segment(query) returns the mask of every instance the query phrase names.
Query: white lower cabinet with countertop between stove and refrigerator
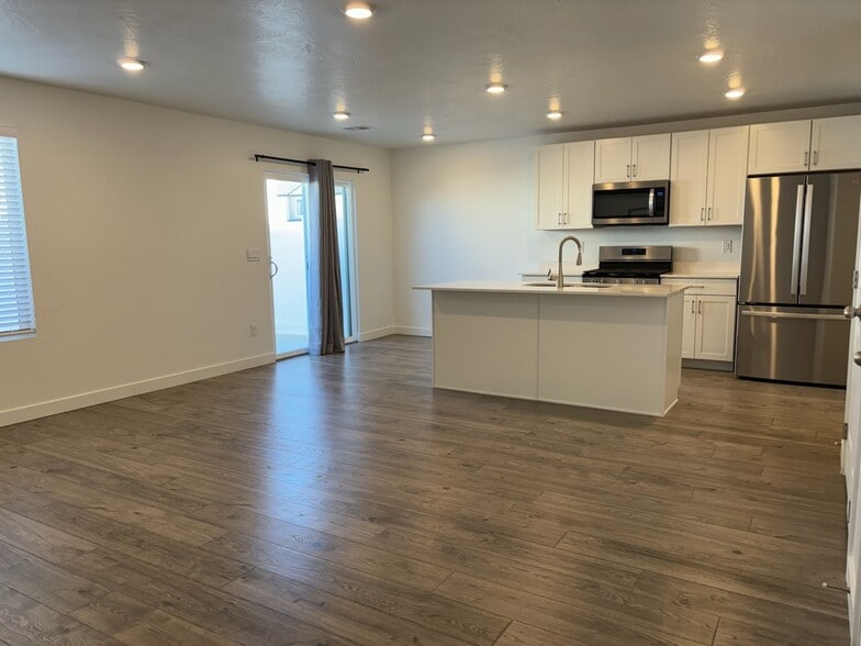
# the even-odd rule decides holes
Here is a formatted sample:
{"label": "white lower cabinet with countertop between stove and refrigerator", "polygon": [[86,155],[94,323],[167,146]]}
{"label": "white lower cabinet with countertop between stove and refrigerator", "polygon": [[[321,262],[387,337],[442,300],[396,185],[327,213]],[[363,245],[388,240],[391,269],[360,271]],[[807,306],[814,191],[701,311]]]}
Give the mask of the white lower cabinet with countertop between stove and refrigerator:
{"label": "white lower cabinet with countertop between stove and refrigerator", "polygon": [[664,278],[685,285],[682,358],[731,363],[736,353],[736,280]]}

